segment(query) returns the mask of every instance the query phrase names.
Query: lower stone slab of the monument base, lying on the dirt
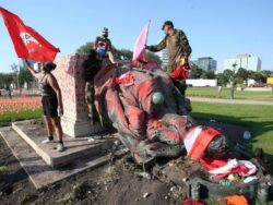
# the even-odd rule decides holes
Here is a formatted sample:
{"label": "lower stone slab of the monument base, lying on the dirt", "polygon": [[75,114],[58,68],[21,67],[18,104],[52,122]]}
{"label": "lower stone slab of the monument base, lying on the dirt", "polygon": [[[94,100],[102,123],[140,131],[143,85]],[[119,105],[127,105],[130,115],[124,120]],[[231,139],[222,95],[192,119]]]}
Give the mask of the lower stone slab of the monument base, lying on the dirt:
{"label": "lower stone slab of the monument base, lying on the dirt", "polygon": [[[36,153],[36,150],[27,144],[22,136],[20,136],[11,126],[0,128],[0,137],[3,137],[8,146],[11,148],[14,156],[23,169],[28,174],[31,181],[36,189],[47,186],[48,184],[56,183],[68,177],[76,174],[86,169],[92,169],[104,164],[107,164],[111,157],[110,154],[99,156],[92,156],[91,154],[78,159],[71,159],[70,164],[66,167],[54,169],[51,165],[46,164],[45,160]],[[33,136],[35,138],[35,136]],[[70,137],[70,140],[73,140]],[[74,138],[76,141],[81,138]],[[72,142],[71,142],[72,143]],[[48,155],[57,153],[51,149]],[[67,152],[63,152],[66,154]],[[121,153],[122,154],[122,153]],[[70,155],[68,153],[68,155]],[[70,158],[70,156],[68,156]]]}

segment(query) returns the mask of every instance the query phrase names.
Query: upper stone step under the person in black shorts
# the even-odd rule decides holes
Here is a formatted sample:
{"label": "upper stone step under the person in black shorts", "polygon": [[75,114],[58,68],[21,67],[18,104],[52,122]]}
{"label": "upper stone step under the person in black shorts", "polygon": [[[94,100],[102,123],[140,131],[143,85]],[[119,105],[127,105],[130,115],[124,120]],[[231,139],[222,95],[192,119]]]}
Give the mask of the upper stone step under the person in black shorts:
{"label": "upper stone step under the person in black shorts", "polygon": [[100,135],[100,140],[88,141],[87,137],[72,138],[64,134],[66,149],[57,152],[58,141],[43,144],[41,141],[47,137],[46,130],[44,124],[35,122],[35,120],[17,121],[12,123],[12,128],[52,168],[69,165],[84,157],[98,157],[112,146],[114,135]]}

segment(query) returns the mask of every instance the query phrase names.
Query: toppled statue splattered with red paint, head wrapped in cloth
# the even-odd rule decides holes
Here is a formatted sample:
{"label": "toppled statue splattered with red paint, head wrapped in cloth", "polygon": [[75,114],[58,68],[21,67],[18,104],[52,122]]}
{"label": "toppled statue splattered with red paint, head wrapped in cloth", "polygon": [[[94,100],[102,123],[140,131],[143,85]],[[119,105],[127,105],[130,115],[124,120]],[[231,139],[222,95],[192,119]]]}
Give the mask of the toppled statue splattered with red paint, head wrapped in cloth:
{"label": "toppled statue splattered with red paint, head wrapped in cloth", "polygon": [[190,101],[161,69],[107,65],[94,85],[98,113],[117,129],[138,164],[178,157],[185,148],[194,160],[225,153],[226,137],[193,122]]}

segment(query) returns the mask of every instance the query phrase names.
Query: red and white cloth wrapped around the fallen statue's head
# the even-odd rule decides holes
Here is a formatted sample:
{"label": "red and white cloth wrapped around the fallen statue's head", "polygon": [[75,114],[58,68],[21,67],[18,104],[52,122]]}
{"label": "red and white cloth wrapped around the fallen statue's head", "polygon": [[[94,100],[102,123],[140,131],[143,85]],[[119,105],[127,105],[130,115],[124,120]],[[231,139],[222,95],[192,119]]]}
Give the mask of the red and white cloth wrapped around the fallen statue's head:
{"label": "red and white cloth wrapped around the fallen statue's head", "polygon": [[203,155],[211,141],[221,133],[210,126],[194,126],[191,128],[183,138],[183,144],[187,149],[188,156],[194,160],[199,160]]}

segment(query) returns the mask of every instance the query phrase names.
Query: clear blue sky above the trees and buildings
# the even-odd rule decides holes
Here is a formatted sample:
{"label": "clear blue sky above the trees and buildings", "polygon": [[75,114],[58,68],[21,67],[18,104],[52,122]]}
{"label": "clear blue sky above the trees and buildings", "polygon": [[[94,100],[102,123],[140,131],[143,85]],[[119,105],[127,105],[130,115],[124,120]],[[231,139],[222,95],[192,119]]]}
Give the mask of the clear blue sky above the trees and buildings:
{"label": "clear blue sky above the trees and buildings", "polygon": [[[225,59],[249,53],[260,57],[262,70],[273,71],[272,0],[0,0],[0,7],[60,48],[57,58],[94,41],[103,27],[116,48],[133,50],[149,20],[147,45],[157,44],[170,20],[186,33],[191,60],[212,57],[222,72]],[[0,17],[0,72],[12,72],[13,63],[19,58]]]}

